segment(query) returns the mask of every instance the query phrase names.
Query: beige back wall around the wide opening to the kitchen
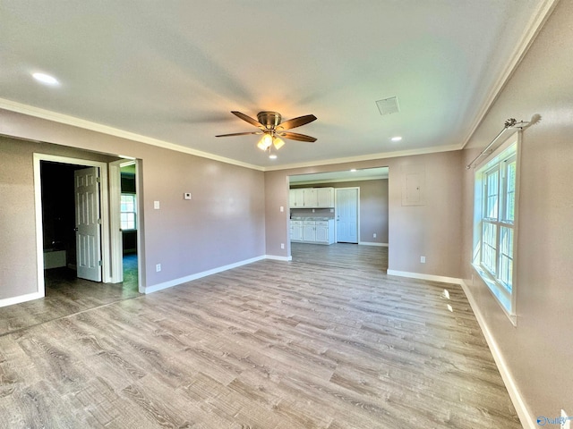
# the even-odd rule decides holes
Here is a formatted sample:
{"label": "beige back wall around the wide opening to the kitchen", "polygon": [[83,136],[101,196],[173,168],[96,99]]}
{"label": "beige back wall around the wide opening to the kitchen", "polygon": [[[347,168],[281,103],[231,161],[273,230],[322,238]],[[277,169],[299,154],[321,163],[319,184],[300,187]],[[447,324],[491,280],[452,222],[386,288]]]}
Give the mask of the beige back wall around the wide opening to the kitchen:
{"label": "beige back wall around the wide opening to the kitchen", "polygon": [[[288,213],[279,213],[275,206],[288,206],[289,175],[389,167],[389,269],[457,279],[461,274],[460,156],[460,151],[454,151],[265,172],[267,199],[275,200],[266,213],[267,245],[288,242]],[[402,205],[403,167],[412,165],[423,166],[425,172],[423,206]],[[281,255],[287,257],[290,249]],[[421,256],[426,257],[425,264],[420,263]]]}

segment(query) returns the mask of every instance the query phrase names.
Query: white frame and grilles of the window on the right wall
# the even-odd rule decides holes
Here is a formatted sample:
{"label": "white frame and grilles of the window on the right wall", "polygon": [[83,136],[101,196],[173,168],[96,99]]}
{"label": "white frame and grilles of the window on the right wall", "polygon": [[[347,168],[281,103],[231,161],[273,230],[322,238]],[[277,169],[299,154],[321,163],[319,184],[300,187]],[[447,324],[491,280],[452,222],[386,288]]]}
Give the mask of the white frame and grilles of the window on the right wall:
{"label": "white frame and grilles of the window on the right wall", "polygon": [[[506,139],[482,164],[475,170],[474,189],[474,251],[472,265],[475,272],[482,278],[493,297],[500,304],[512,324],[517,325],[516,296],[517,296],[517,206],[519,198],[519,147],[521,146],[521,132]],[[514,211],[513,219],[509,219],[506,208],[509,201],[508,171],[509,165],[515,162],[515,187],[513,188]],[[488,189],[488,178],[498,174],[498,188]],[[490,184],[492,181],[490,181]],[[489,191],[488,191],[489,190]],[[495,201],[495,210],[488,212],[488,196]],[[495,231],[494,240],[485,242],[484,226],[492,225],[490,231]],[[502,246],[501,231],[512,236],[511,246]],[[507,235],[506,235],[507,236]],[[507,243],[507,242],[506,242]],[[494,253],[488,258],[484,249]],[[502,252],[501,247],[506,250]],[[488,259],[492,264],[488,264]],[[501,264],[505,264],[502,269]],[[500,271],[504,274],[500,278]],[[507,280],[505,282],[504,280]]]}

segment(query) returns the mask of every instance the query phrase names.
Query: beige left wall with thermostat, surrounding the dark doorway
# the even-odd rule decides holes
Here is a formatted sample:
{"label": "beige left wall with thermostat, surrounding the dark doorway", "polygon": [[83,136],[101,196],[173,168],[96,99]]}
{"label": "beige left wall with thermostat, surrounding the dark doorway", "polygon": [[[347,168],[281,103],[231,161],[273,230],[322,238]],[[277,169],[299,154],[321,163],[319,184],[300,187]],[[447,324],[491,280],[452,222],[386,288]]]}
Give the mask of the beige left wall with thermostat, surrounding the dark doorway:
{"label": "beige left wall with thermostat, surrounding the dark doorway", "polygon": [[[57,144],[2,140],[0,299],[37,291],[31,156],[37,150],[85,159],[93,159],[94,151],[141,159],[144,286],[265,255],[262,172],[23,114],[0,114],[0,134]],[[184,200],[184,192],[192,193],[191,201]],[[156,200],[159,210],[153,208]],[[159,273],[156,264],[162,265]]]}

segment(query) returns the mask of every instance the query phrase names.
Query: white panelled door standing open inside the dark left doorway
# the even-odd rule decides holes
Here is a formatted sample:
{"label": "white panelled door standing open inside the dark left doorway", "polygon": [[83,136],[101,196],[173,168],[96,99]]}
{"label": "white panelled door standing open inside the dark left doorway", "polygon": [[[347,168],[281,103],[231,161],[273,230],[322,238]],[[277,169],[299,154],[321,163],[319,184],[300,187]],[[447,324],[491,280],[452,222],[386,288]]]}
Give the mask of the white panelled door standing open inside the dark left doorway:
{"label": "white panelled door standing open inside the dark left doorway", "polygon": [[99,214],[99,170],[74,172],[76,257],[78,277],[101,282],[101,219]]}

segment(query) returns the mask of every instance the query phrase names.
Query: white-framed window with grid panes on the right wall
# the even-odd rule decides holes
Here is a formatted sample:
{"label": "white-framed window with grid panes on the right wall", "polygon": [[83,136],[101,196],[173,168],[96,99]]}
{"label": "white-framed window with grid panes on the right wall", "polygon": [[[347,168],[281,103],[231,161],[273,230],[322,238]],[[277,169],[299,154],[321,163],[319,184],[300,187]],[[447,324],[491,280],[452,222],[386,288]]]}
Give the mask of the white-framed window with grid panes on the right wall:
{"label": "white-framed window with grid panes on the right wall", "polygon": [[513,324],[518,138],[501,145],[475,172],[473,265]]}

